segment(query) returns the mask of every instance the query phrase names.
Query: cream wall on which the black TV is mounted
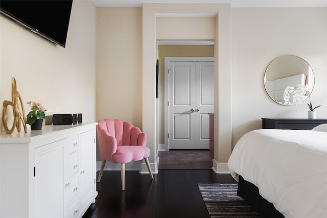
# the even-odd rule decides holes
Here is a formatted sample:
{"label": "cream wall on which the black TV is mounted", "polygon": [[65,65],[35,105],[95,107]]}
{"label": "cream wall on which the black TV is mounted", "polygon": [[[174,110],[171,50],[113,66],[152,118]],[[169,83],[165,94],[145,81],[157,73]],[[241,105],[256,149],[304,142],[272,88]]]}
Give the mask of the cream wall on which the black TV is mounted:
{"label": "cream wall on which the black TV is mounted", "polygon": [[[28,101],[53,113],[82,113],[83,123],[96,121],[96,7],[74,1],[63,48],[0,16],[0,102],[11,101],[14,77],[26,113]],[[2,115],[2,108],[0,113]],[[7,110],[8,126],[12,112]],[[1,122],[1,131],[4,131]],[[28,131],[30,127],[28,126]],[[24,132],[22,129],[21,132]]]}

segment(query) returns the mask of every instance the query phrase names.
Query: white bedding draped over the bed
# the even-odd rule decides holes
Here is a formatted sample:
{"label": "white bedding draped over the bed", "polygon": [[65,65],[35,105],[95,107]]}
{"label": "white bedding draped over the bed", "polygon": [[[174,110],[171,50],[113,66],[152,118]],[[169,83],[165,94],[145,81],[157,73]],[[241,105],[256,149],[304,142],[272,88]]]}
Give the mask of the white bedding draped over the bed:
{"label": "white bedding draped over the bed", "polygon": [[327,217],[327,132],[261,129],[246,133],[228,160],[286,218]]}

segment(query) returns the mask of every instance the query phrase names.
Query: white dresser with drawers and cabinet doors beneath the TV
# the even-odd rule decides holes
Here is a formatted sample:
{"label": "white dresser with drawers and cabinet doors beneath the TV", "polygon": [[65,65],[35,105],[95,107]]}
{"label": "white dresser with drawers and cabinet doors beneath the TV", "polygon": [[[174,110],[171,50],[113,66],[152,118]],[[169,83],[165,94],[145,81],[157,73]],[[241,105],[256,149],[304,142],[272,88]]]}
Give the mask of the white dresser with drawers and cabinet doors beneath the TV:
{"label": "white dresser with drawers and cabinet doors beneath the TV", "polygon": [[81,217],[95,203],[96,125],[0,133],[0,217]]}

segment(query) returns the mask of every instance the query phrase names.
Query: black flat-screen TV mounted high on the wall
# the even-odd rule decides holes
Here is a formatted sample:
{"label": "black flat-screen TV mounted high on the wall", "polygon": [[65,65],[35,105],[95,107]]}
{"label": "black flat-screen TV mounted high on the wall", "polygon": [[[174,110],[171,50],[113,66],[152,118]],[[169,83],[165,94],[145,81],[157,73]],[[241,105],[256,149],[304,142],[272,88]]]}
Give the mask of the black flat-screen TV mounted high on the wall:
{"label": "black flat-screen TV mounted high on the wall", "polygon": [[72,5],[73,0],[1,0],[0,13],[65,47]]}

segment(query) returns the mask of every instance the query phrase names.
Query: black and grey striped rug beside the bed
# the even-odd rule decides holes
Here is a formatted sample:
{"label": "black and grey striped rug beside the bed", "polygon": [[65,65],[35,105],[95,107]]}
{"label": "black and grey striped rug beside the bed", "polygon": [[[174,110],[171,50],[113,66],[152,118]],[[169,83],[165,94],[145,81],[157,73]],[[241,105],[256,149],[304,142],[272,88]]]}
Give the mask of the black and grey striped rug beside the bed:
{"label": "black and grey striped rug beside the bed", "polygon": [[261,217],[237,196],[237,184],[198,184],[211,218]]}

